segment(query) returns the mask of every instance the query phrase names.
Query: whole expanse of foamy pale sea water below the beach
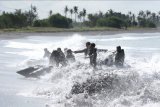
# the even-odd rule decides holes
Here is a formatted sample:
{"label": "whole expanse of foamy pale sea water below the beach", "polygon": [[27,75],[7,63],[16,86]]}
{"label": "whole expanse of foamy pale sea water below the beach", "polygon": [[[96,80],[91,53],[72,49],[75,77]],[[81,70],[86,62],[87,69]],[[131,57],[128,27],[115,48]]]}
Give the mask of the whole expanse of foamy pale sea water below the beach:
{"label": "whole expanse of foamy pale sea water below the beach", "polygon": [[[1,107],[160,106],[160,33],[37,35],[0,40]],[[24,78],[16,73],[29,66],[48,65],[47,59],[43,59],[44,48],[50,52],[58,47],[75,51],[84,49],[88,41],[98,49],[108,49],[106,53],[98,53],[98,60],[104,60],[120,45],[125,50],[125,67],[98,66],[94,70],[84,54],[75,54],[75,63],[56,67],[40,79]],[[109,74],[116,75],[118,82],[113,83],[114,88],[87,98],[83,93],[66,97],[74,83]]]}

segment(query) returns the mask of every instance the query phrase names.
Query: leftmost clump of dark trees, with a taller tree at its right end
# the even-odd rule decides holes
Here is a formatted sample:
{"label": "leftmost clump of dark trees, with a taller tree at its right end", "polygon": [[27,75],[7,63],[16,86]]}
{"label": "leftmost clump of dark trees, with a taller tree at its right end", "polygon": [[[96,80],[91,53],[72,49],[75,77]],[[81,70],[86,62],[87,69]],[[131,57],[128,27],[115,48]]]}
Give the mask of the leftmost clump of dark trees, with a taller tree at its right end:
{"label": "leftmost clump of dark trees, with a taller tree at its right end", "polygon": [[21,28],[32,26],[37,17],[37,9],[32,5],[31,9],[25,12],[22,12],[20,9],[16,9],[14,13],[3,12],[3,14],[0,15],[0,28]]}

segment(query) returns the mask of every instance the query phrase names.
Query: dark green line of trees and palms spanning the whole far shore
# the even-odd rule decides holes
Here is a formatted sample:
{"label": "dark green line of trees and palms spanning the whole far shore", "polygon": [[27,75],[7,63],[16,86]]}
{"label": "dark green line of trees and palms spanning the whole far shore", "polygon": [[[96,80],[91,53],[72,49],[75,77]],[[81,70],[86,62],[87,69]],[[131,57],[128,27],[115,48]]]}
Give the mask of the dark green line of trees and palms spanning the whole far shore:
{"label": "dark green line of trees and palms spanning the whole far shore", "polygon": [[73,28],[74,23],[80,23],[82,27],[155,28],[160,25],[160,12],[155,13],[146,10],[139,11],[138,15],[135,15],[132,12],[123,14],[110,9],[105,13],[99,11],[95,14],[87,14],[85,8],[79,10],[77,6],[73,8],[65,6],[64,16],[60,13],[53,14],[52,10],[50,10],[47,18],[38,19],[37,8],[31,5],[28,11],[22,12],[21,9],[16,9],[14,12],[4,11],[0,15],[0,28],[22,28],[27,26]]}

